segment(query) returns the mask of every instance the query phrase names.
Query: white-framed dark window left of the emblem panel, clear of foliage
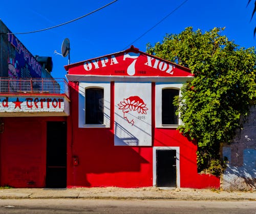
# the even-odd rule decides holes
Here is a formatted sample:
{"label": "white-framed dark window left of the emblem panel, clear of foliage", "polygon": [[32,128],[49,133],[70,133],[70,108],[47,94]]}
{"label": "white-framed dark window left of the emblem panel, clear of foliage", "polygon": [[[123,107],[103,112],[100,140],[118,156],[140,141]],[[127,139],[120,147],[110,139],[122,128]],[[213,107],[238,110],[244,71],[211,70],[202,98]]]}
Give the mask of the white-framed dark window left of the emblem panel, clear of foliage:
{"label": "white-framed dark window left of the emblem panel, clear of foliage", "polygon": [[110,127],[110,82],[79,83],[78,127]]}

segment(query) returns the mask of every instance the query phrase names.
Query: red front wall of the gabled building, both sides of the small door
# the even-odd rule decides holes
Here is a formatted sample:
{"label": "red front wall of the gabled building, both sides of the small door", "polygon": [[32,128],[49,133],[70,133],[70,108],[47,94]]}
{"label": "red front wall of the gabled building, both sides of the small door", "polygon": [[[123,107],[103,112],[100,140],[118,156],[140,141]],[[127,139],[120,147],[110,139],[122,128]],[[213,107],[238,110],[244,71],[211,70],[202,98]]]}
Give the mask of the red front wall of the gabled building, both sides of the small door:
{"label": "red front wall of the gabled building, both sides of the small door", "polygon": [[[114,146],[114,83],[111,84],[110,129],[78,129],[78,85],[71,88],[70,142],[68,142],[68,187],[143,187],[153,185],[153,147]],[[155,118],[155,84],[152,85],[152,118]],[[71,124],[72,123],[72,124]],[[152,126],[155,127],[154,120]],[[199,175],[197,146],[175,129],[152,129],[153,146],[180,147],[181,187],[218,188],[220,179]],[[74,166],[72,157],[79,164]]]}

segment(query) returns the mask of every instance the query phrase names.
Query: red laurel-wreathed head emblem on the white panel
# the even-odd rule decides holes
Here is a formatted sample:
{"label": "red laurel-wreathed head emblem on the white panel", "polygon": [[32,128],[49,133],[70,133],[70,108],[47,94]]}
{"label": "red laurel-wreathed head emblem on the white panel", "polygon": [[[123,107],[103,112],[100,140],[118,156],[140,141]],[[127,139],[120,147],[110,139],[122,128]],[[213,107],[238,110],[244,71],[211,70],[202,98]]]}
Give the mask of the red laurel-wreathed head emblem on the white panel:
{"label": "red laurel-wreathed head emblem on the white panel", "polygon": [[[136,114],[143,115],[146,114],[146,111],[148,110],[144,101],[138,96],[131,96],[123,99],[123,101],[118,103],[118,106],[118,109],[123,111],[123,118],[132,125],[135,123],[134,118],[145,119],[145,116],[136,117]],[[129,112],[133,112],[133,114],[129,114]],[[130,118],[130,116],[132,116],[132,118]]]}

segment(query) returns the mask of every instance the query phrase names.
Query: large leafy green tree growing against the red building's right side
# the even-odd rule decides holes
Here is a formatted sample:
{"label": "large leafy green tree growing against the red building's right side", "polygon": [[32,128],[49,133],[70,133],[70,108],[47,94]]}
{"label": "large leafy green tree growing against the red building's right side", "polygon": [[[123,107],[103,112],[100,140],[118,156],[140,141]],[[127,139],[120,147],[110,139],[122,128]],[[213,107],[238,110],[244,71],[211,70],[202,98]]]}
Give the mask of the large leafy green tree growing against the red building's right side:
{"label": "large leafy green tree growing against the red building's right side", "polygon": [[228,143],[255,105],[256,51],[240,48],[221,35],[224,28],[204,33],[186,28],[166,34],[147,52],[191,69],[195,78],[176,98],[183,125],[178,129],[198,145],[198,169],[222,173],[221,143]]}

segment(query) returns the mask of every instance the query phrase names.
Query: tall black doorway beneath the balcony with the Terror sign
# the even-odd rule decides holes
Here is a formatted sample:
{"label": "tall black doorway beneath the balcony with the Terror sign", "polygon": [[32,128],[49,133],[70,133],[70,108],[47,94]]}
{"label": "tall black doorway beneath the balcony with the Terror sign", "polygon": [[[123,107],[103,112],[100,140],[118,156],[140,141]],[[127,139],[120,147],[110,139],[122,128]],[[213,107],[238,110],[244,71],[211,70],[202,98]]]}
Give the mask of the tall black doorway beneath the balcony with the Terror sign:
{"label": "tall black doorway beneath the balcony with the Terror sign", "polygon": [[67,123],[47,122],[46,187],[67,187]]}

